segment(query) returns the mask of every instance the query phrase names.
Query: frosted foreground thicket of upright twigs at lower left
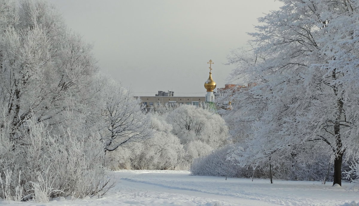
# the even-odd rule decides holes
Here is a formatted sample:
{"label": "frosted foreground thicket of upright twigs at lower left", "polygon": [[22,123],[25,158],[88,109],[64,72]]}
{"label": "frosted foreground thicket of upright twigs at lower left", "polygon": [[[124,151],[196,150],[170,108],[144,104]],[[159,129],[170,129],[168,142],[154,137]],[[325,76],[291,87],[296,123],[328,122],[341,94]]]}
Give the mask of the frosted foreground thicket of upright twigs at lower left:
{"label": "frosted foreground thicket of upright twigs at lower left", "polygon": [[27,120],[11,141],[6,125],[0,130],[0,197],[8,200],[84,197],[104,192],[108,180],[102,166],[103,145],[97,134],[77,136],[67,130],[51,135],[43,123]]}

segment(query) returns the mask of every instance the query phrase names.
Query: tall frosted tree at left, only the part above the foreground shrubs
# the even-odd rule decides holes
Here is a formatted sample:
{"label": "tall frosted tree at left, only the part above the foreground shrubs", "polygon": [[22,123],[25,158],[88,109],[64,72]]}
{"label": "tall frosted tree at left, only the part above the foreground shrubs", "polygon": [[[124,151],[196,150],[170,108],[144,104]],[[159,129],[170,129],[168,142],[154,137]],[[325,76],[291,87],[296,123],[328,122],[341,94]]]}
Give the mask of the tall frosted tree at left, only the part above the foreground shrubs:
{"label": "tall frosted tree at left, only the part above the foreground shrubs", "polygon": [[[87,90],[98,70],[92,46],[70,32],[47,2],[16,4],[0,2],[0,104],[12,138],[32,115],[54,128],[73,117],[90,118]],[[79,128],[75,122],[68,125]]]}

